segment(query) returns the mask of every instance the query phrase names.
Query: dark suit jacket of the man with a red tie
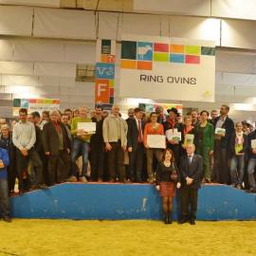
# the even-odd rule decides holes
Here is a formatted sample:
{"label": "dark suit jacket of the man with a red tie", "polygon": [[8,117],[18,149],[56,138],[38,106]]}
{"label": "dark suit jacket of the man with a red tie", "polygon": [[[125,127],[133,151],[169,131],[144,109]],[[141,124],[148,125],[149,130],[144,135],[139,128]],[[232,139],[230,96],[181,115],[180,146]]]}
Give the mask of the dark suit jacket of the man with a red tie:
{"label": "dark suit jacket of the man with a red tie", "polygon": [[[128,125],[127,147],[137,148],[138,144],[138,128],[136,119],[126,119]],[[141,133],[143,135],[145,122],[141,120]],[[143,139],[142,139],[143,143]]]}

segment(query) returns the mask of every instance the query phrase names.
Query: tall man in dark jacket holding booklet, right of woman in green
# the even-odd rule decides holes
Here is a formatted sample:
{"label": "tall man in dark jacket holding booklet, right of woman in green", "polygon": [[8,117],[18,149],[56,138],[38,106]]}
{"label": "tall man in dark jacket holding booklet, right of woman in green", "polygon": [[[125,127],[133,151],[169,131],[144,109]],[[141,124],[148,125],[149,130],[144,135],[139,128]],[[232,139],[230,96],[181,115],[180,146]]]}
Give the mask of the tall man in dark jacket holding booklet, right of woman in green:
{"label": "tall man in dark jacket holding booklet, right of woman in green", "polygon": [[220,117],[214,119],[214,128],[225,129],[225,135],[215,135],[214,140],[214,157],[213,157],[213,182],[228,184],[229,183],[229,160],[230,160],[230,141],[233,135],[234,122],[229,119],[229,106],[222,105]]}

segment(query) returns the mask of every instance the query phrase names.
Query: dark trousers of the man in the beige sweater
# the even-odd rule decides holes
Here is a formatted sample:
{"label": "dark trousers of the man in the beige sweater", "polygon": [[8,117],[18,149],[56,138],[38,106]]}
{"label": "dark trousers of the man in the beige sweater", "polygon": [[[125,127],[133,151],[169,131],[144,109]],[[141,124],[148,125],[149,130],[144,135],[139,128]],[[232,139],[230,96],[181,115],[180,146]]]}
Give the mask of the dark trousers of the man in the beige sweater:
{"label": "dark trousers of the man in the beige sweater", "polygon": [[[125,180],[125,168],[124,168],[124,152],[119,142],[110,142],[112,147],[111,151],[108,152],[108,171],[110,179],[116,179],[117,174],[119,175],[119,181]],[[117,167],[117,168],[116,168]]]}

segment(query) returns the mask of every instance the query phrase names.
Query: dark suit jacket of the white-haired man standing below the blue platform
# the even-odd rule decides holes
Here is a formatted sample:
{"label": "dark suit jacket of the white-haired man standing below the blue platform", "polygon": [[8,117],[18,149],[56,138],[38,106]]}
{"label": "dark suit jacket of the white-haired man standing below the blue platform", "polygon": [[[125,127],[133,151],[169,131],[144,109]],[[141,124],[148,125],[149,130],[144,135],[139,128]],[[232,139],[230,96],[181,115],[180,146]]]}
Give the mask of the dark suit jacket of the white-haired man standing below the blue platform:
{"label": "dark suit jacket of the white-haired man standing below the blue platform", "polygon": [[[190,164],[188,155],[183,155],[180,158],[179,174],[181,177],[181,186],[183,188],[199,189],[203,177],[203,157],[194,154],[192,163]],[[187,185],[186,177],[193,179],[191,185]]]}

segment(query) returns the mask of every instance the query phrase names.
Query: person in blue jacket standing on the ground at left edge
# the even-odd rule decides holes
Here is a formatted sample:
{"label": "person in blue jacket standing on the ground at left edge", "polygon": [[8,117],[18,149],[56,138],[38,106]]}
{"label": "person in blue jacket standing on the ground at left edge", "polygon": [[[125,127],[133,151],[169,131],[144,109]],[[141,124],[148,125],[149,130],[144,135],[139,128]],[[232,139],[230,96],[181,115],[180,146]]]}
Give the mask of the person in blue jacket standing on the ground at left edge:
{"label": "person in blue jacket standing on the ground at left edge", "polygon": [[9,217],[8,166],[9,153],[0,145],[0,212],[4,221],[11,222]]}

